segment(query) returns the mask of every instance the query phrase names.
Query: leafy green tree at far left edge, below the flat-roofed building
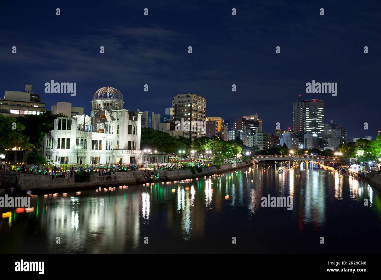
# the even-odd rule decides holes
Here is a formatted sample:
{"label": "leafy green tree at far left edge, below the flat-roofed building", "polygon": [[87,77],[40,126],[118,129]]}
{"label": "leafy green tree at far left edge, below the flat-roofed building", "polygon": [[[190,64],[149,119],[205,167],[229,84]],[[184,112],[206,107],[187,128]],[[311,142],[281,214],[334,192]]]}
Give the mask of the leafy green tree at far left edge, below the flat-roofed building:
{"label": "leafy green tree at far left edge, below the flat-roofed building", "polygon": [[0,115],[0,152],[18,147],[21,150],[30,150],[29,138],[22,134],[25,126],[16,122],[15,117]]}

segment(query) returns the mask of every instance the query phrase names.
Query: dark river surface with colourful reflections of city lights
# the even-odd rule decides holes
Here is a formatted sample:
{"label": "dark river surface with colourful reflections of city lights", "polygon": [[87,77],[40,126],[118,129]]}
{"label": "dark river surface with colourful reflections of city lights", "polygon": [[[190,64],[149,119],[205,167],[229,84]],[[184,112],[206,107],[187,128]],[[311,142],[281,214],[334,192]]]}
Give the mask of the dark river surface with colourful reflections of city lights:
{"label": "dark river surface with colourful reflections of city lights", "polygon": [[[32,198],[35,210],[30,213],[2,209],[11,215],[0,220],[0,252],[173,252],[197,251],[200,246],[218,251],[223,242],[219,238],[226,238],[226,232],[237,235],[237,230],[247,234],[250,242],[267,242],[270,250],[271,244],[285,242],[288,235],[303,240],[311,230],[339,232],[346,226],[345,219],[363,222],[352,225],[357,229],[351,234],[357,237],[369,237],[366,225],[373,225],[371,236],[381,234],[379,190],[312,163],[283,173],[275,172],[277,166],[261,164],[198,180]],[[261,197],[268,194],[291,196],[293,210],[262,208]],[[369,201],[367,208],[362,207],[364,199]],[[144,237],[150,238],[150,247],[144,246]],[[20,242],[24,246],[16,245]],[[367,248],[377,248],[370,245]],[[311,249],[308,244],[295,246],[295,251]]]}

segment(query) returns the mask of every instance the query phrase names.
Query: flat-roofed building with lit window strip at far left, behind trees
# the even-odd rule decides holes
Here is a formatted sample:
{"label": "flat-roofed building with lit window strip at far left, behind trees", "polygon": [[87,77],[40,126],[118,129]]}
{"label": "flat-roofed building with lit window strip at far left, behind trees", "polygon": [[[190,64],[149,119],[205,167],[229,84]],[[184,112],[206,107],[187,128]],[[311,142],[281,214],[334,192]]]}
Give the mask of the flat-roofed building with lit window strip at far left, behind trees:
{"label": "flat-roofed building with lit window strip at far left, behind trees", "polygon": [[0,114],[6,117],[39,115],[42,112],[45,112],[45,103],[41,103],[40,96],[32,92],[31,85],[26,85],[25,91],[6,90],[4,99],[0,99]]}

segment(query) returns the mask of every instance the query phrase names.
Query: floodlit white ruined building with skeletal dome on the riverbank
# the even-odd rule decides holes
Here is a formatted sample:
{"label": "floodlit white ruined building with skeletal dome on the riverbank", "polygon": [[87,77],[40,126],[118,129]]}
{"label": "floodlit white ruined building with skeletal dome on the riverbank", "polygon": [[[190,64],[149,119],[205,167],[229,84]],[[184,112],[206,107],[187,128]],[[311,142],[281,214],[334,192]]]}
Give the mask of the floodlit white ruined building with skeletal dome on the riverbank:
{"label": "floodlit white ruined building with skeletal dome on the riverbank", "polygon": [[123,96],[106,86],[93,95],[91,117],[54,120],[44,137],[43,155],[56,164],[141,163],[141,111],[123,109]]}

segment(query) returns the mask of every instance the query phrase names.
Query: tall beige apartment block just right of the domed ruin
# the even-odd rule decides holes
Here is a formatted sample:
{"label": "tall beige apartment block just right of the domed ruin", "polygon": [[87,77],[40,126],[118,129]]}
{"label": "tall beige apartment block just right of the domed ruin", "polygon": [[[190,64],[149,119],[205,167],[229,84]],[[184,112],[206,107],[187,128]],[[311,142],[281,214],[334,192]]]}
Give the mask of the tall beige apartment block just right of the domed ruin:
{"label": "tall beige apartment block just right of the domed ruin", "polygon": [[[174,109],[174,122],[197,123],[197,127],[189,126],[189,129],[184,130],[184,137],[194,140],[205,136],[205,120],[207,101],[205,97],[194,93],[179,93],[172,98],[172,107]],[[186,125],[181,127],[187,127]]]}

